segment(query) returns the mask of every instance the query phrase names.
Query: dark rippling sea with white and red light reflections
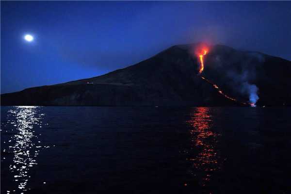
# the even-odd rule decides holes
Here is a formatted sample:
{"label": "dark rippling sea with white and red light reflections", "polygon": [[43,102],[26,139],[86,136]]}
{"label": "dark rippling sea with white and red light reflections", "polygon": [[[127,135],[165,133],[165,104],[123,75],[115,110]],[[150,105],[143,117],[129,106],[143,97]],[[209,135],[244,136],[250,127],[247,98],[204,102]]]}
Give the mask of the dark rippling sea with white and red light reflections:
{"label": "dark rippling sea with white and red light reflections", "polygon": [[289,194],[291,108],[1,107],[1,194]]}

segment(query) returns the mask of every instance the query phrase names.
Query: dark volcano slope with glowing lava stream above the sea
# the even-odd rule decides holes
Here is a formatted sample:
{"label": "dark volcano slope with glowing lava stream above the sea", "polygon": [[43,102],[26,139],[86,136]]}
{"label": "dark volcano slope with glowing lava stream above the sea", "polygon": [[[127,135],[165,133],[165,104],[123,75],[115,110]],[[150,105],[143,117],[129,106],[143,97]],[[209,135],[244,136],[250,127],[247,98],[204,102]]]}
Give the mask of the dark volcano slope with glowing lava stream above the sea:
{"label": "dark volcano slope with glowing lava stream above the sea", "polygon": [[[89,79],[2,94],[1,105],[258,106],[291,105],[291,62],[260,52],[178,45],[136,65]],[[251,86],[251,87],[249,87]]]}

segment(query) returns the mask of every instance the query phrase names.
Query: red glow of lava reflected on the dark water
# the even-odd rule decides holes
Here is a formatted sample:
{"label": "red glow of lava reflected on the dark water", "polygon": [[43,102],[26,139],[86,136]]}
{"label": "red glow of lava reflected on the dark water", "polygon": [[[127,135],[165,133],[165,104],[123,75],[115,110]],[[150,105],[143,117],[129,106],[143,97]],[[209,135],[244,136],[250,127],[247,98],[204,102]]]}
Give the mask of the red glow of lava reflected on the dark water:
{"label": "red glow of lava reflected on the dark water", "polygon": [[192,162],[191,174],[198,178],[201,186],[205,186],[213,172],[220,169],[217,152],[220,134],[211,130],[212,118],[209,110],[207,107],[195,108],[191,119],[187,121],[193,127],[190,130],[191,152],[187,160]]}

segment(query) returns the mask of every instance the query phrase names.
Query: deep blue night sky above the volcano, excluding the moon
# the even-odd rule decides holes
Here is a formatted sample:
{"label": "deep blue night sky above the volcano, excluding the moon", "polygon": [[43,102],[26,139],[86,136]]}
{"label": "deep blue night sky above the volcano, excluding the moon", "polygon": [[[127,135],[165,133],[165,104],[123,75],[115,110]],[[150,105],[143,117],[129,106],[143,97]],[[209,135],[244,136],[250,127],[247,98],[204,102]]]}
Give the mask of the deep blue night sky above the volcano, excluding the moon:
{"label": "deep blue night sky above the volcano, excluding the moon", "polygon": [[1,93],[98,76],[201,41],[291,60],[291,1],[1,1]]}

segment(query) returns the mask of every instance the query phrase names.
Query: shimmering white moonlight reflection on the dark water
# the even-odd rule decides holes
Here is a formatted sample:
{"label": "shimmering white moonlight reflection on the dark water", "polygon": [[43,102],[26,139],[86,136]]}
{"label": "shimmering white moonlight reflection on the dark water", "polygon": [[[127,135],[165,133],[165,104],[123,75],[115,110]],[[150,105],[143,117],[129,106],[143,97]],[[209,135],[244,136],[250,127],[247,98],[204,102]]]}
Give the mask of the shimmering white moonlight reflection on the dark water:
{"label": "shimmering white moonlight reflection on the dark water", "polygon": [[13,188],[7,193],[27,191],[27,183],[30,179],[29,170],[37,164],[36,157],[39,153],[40,141],[35,134],[35,126],[41,127],[41,119],[44,114],[39,114],[39,107],[19,106],[8,111],[7,124],[12,125],[15,133],[10,137],[10,145],[7,152],[12,153],[12,162],[9,171],[13,176],[17,189]]}

